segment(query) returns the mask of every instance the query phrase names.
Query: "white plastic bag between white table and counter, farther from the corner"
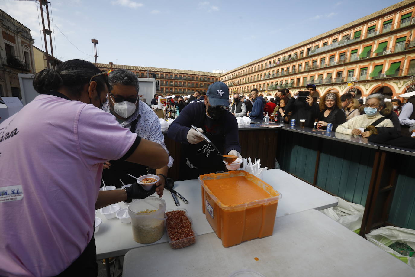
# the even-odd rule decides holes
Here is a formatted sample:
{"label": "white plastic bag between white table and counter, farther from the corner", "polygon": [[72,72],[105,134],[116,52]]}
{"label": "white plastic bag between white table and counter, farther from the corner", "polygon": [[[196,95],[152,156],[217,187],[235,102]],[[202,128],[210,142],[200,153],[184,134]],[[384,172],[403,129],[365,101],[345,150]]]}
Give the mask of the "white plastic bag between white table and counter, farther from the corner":
{"label": "white plastic bag between white table and counter, farther from the corner", "polygon": [[339,201],[337,206],[324,209],[321,212],[330,217],[332,220],[342,224],[349,230],[359,233],[360,226],[362,224],[364,206],[347,202],[338,196],[334,197],[336,197]]}

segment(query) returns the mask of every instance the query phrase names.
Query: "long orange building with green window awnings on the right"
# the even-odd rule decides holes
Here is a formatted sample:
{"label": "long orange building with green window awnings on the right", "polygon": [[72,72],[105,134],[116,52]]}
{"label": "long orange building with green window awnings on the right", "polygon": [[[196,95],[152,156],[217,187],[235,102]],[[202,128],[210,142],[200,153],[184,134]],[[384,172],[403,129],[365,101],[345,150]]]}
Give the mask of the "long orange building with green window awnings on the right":
{"label": "long orange building with green window awnings on the right", "polygon": [[406,92],[415,75],[415,2],[405,0],[317,37],[244,64],[222,75],[233,92],[257,88],[263,96],[278,88],[298,91],[314,83],[320,96],[340,94],[353,83],[357,96],[387,98]]}

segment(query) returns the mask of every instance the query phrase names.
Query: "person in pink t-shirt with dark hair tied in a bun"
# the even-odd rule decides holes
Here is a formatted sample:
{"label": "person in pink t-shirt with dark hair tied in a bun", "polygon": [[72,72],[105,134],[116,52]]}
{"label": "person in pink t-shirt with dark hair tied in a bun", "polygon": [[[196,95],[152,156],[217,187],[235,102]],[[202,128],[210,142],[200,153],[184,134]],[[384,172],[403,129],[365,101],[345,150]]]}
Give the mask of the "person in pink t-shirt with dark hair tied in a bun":
{"label": "person in pink t-shirt with dark hair tied in a bun", "polygon": [[0,124],[0,276],[96,275],[95,209],[148,196],[139,186],[99,191],[103,163],[168,162],[161,145],[100,110],[107,83],[97,71],[81,60],[41,71],[43,94]]}

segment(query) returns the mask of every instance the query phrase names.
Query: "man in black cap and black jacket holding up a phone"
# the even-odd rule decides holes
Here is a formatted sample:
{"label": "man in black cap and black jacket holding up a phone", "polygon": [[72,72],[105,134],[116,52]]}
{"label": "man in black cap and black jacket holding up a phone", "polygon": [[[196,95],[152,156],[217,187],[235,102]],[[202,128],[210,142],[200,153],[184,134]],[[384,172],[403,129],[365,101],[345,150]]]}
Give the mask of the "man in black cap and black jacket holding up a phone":
{"label": "man in black cap and black jacket holding up a phone", "polygon": [[298,92],[290,98],[286,105],[285,113],[292,112],[291,119],[295,119],[295,125],[300,125],[300,120],[305,119],[305,127],[313,127],[315,119],[320,113],[318,104],[314,102],[312,96],[315,94],[315,84],[308,84],[305,86],[305,91],[310,92],[310,96],[305,98],[305,101],[300,101]]}

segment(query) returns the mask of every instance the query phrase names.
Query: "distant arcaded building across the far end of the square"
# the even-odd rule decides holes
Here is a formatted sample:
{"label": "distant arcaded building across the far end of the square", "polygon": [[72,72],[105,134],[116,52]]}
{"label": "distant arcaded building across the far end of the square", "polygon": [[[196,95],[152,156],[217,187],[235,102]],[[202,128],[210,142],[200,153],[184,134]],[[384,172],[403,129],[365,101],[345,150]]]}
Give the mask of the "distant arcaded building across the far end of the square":
{"label": "distant arcaded building across the far end of the square", "polygon": [[[206,92],[207,87],[216,81],[220,81],[222,74],[191,71],[181,69],[166,69],[145,66],[126,66],[120,64],[98,64],[102,70],[128,69],[134,72],[139,78],[156,78],[160,80],[160,88],[157,93],[163,96],[168,95],[188,95],[195,91]],[[148,77],[147,77],[148,74]]]}

